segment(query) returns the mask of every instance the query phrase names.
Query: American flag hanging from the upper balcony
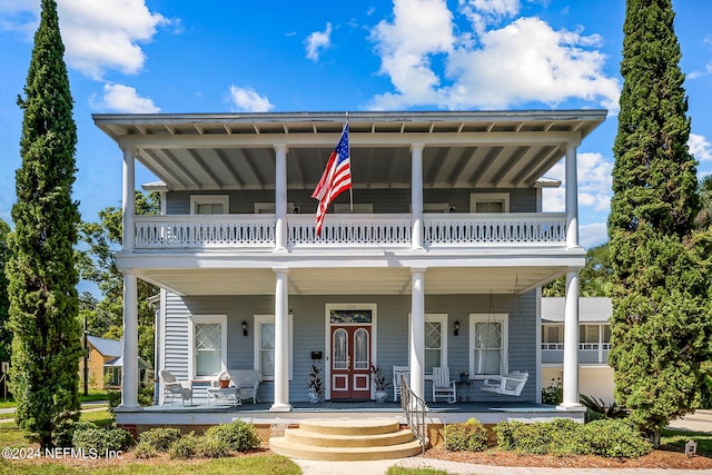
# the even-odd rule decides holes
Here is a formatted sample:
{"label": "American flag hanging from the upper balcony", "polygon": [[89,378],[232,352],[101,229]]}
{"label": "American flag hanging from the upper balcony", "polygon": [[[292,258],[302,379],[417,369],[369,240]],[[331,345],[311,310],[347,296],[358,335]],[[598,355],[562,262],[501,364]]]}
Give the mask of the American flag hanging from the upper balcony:
{"label": "American flag hanging from the upper balcony", "polygon": [[348,155],[348,123],[346,123],[342,132],[342,138],[336,145],[336,149],[334,149],[329,156],[329,161],[326,164],[324,175],[322,175],[319,184],[312,194],[312,198],[319,200],[319,206],[316,210],[317,236],[322,235],[324,217],[332,201],[343,191],[350,189],[350,187],[352,165]]}

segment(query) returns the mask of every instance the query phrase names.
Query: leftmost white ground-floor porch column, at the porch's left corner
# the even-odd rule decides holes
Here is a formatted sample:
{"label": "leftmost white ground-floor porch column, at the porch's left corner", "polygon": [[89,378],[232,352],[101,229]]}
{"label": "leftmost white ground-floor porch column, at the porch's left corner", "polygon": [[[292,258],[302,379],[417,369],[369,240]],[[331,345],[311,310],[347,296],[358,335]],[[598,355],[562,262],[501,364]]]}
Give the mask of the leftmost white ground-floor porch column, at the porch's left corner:
{"label": "leftmost white ground-floor porch column, at the porch's left corner", "polygon": [[138,289],[136,275],[123,273],[123,372],[121,405],[138,409]]}

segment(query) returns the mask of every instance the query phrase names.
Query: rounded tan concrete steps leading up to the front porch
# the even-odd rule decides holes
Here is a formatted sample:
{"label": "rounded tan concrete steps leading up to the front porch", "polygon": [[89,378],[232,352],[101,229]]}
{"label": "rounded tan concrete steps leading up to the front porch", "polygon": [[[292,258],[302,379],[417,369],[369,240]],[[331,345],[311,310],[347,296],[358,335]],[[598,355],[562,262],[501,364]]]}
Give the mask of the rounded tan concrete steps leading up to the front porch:
{"label": "rounded tan concrete steps leading up to the front porch", "polygon": [[396,419],[310,419],[271,437],[273,452],[309,461],[383,461],[423,452]]}

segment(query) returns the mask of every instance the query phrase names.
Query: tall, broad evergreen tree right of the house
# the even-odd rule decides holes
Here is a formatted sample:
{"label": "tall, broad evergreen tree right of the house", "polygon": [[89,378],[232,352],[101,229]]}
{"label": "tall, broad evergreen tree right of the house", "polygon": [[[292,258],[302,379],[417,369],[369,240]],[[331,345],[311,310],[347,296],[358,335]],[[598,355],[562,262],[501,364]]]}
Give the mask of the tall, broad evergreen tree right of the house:
{"label": "tall, broad evergreen tree right of the house", "polygon": [[710,354],[708,263],[671,0],[627,0],[609,218],[615,395],[654,443],[698,407]]}

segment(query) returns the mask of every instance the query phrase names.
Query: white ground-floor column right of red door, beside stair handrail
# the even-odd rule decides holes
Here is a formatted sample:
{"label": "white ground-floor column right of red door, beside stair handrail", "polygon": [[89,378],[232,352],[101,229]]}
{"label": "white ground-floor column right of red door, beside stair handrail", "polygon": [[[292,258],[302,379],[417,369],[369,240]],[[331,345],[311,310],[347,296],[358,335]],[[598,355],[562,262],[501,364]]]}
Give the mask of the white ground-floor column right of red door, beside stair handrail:
{"label": "white ground-floor column right of red door, beside stair handrail", "polygon": [[411,389],[425,399],[425,268],[411,269]]}

